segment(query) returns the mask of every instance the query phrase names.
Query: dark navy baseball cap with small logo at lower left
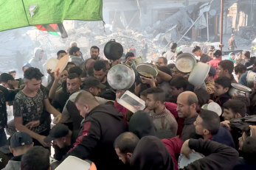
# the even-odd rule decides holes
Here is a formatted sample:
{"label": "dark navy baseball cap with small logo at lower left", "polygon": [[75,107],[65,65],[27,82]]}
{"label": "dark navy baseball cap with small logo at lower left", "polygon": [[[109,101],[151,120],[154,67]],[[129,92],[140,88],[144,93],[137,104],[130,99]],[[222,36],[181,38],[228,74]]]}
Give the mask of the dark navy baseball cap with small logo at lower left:
{"label": "dark navy baseball cap with small logo at lower left", "polygon": [[10,146],[16,148],[18,146],[25,146],[32,144],[32,138],[27,132],[15,132],[10,138]]}

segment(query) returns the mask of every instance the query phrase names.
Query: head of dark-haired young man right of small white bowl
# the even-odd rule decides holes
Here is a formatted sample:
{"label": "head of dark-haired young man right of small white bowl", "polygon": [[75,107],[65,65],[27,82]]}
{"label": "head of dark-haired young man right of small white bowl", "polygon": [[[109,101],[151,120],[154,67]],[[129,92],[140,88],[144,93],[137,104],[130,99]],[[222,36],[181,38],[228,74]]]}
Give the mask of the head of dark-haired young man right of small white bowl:
{"label": "head of dark-haired young man right of small white bowl", "polygon": [[246,116],[246,105],[238,99],[231,99],[224,103],[224,112],[222,117],[225,121],[232,118],[239,118]]}

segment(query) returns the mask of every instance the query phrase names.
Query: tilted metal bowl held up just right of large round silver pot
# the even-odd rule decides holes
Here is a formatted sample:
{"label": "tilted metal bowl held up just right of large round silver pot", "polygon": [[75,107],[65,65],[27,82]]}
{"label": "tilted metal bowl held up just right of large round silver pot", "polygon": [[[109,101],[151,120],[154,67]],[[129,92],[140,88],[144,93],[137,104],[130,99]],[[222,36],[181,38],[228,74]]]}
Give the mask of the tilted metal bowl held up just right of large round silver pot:
{"label": "tilted metal bowl held up just right of large round silver pot", "polygon": [[147,74],[151,74],[153,77],[156,77],[158,74],[158,71],[156,68],[153,67],[151,64],[143,63],[136,66],[136,71],[141,75],[142,77],[151,78]]}

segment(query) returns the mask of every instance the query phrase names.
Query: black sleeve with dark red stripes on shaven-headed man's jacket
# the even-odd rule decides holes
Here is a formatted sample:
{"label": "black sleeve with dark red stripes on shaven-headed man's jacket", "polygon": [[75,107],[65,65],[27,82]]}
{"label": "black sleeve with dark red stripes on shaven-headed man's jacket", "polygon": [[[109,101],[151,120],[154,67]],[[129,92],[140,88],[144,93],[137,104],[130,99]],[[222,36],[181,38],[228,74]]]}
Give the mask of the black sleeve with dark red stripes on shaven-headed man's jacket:
{"label": "black sleeve with dark red stripes on shaven-headed man's jacket", "polygon": [[66,157],[72,155],[82,160],[89,159],[91,151],[100,141],[100,137],[100,124],[97,121],[86,121],[83,126],[82,135],[77,138],[74,148],[69,150]]}

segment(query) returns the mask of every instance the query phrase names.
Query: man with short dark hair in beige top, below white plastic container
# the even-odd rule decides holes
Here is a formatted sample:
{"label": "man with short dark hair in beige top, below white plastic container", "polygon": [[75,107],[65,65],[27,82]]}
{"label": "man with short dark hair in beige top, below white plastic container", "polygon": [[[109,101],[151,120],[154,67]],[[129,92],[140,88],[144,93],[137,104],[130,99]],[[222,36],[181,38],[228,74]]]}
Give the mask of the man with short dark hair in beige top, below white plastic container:
{"label": "man with short dark hair in beige top, below white plastic container", "polygon": [[153,119],[156,130],[171,130],[177,133],[178,124],[173,114],[165,107],[165,92],[162,88],[148,88],[145,110]]}

